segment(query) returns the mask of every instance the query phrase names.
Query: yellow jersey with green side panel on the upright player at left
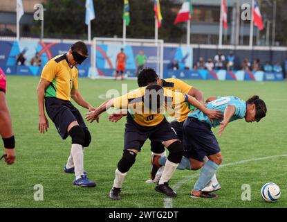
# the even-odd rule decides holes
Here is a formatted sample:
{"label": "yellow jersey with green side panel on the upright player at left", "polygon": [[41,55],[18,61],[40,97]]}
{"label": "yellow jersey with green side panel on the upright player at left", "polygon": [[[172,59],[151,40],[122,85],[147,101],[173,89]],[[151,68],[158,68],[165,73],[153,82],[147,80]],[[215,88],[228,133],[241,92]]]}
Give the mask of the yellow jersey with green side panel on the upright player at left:
{"label": "yellow jersey with green side panel on the upright player at left", "polygon": [[77,68],[68,65],[66,54],[51,59],[41,74],[41,78],[50,82],[46,87],[45,97],[71,101],[71,89],[77,89],[77,76]]}

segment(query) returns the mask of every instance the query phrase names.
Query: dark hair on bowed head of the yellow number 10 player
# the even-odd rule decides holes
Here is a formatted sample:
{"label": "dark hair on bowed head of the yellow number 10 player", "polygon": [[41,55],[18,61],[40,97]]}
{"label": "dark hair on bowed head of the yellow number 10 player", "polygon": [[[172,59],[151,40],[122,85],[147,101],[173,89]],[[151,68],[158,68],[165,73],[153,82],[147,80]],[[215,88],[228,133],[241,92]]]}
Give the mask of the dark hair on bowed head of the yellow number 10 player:
{"label": "dark hair on bowed head of the yellow number 10 player", "polygon": [[153,112],[159,112],[165,101],[163,87],[160,85],[149,85],[145,88],[144,105]]}

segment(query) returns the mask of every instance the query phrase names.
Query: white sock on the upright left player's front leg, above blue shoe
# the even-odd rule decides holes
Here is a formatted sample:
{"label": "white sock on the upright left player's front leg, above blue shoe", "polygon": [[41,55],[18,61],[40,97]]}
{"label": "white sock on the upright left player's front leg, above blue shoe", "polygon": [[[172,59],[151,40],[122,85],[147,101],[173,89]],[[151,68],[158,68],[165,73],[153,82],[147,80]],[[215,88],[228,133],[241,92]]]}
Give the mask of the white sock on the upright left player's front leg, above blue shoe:
{"label": "white sock on the upright left player's front leg, above blue shoe", "polygon": [[81,175],[84,174],[83,146],[80,144],[72,144],[71,154],[75,164],[75,177],[77,180],[80,179]]}

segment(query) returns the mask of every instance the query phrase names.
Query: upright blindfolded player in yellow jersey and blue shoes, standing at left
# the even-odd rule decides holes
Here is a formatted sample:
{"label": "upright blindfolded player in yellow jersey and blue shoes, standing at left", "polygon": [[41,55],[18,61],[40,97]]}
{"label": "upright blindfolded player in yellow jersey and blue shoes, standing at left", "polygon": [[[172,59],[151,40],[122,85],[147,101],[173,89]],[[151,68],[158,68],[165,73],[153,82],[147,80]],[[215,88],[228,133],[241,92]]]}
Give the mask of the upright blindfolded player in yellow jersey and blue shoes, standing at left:
{"label": "upright blindfolded player in yellow jersey and blue shoes, standing at left", "polygon": [[[45,115],[55,123],[62,139],[72,138],[71,155],[64,171],[75,173],[74,186],[95,187],[95,182],[86,178],[84,171],[83,147],[89,146],[91,135],[79,110],[71,103],[71,98],[89,111],[94,108],[87,103],[77,85],[80,65],[88,58],[88,49],[84,42],[75,42],[68,53],[56,56],[45,65],[37,88],[39,105],[39,131],[45,133],[49,123]],[[44,108],[45,104],[45,108]]]}

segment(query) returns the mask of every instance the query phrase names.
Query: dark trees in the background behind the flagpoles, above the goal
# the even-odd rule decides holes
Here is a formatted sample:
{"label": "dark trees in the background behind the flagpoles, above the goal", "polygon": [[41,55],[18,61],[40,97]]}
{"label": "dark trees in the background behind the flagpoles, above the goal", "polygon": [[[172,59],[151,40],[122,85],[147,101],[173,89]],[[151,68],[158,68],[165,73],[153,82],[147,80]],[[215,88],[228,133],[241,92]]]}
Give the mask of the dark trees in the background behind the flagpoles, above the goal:
{"label": "dark trees in the background behind the flagpoles, above the goal", "polygon": [[[123,1],[94,1],[95,19],[91,21],[92,36],[122,37]],[[131,22],[127,27],[127,37],[154,38],[154,1],[129,0]],[[185,35],[183,26],[174,26],[177,10],[174,1],[160,2],[163,26],[158,37],[171,42]],[[49,0],[44,3],[44,36],[86,39],[85,0]],[[176,8],[176,10],[173,10]],[[40,33],[38,26],[36,33]]]}

